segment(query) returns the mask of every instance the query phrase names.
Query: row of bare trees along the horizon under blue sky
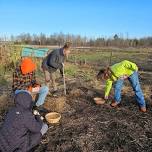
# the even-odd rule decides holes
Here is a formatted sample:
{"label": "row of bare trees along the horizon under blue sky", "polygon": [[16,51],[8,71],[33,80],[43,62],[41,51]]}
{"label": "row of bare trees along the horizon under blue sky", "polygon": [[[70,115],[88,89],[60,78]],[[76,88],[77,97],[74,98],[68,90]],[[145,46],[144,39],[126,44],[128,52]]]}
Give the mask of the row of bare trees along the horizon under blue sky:
{"label": "row of bare trees along the horizon under blue sky", "polygon": [[[55,33],[52,35],[46,34],[29,34],[23,33],[17,36],[10,36],[9,41],[14,44],[28,45],[63,45],[65,41],[71,41],[76,47],[152,47],[152,37],[144,38],[123,38],[119,34],[115,34],[111,38],[87,38],[80,35]],[[5,38],[6,40],[6,38]],[[0,41],[4,38],[0,37]]]}

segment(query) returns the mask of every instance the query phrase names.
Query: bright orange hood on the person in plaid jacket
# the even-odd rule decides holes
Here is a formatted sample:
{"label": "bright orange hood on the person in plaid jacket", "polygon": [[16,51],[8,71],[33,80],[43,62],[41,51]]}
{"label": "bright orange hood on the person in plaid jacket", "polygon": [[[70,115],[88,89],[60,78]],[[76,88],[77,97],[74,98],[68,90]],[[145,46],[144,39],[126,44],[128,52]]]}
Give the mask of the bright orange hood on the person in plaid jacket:
{"label": "bright orange hood on the person in plaid jacket", "polygon": [[21,71],[23,74],[31,73],[36,70],[36,64],[33,63],[32,59],[25,58],[21,62]]}

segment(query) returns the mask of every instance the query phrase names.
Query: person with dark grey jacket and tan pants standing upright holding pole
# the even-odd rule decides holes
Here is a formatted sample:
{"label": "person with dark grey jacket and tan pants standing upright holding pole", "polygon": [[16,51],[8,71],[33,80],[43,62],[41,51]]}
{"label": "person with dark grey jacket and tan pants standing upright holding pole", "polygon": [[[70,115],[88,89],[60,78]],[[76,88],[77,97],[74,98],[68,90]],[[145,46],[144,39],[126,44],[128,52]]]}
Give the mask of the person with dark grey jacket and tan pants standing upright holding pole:
{"label": "person with dark grey jacket and tan pants standing upright holding pole", "polygon": [[45,75],[45,81],[49,87],[50,80],[52,81],[53,91],[57,91],[57,85],[55,82],[55,72],[59,69],[61,76],[63,77],[63,63],[65,57],[70,53],[71,43],[67,42],[62,48],[53,50],[49,53],[42,62],[42,69]]}

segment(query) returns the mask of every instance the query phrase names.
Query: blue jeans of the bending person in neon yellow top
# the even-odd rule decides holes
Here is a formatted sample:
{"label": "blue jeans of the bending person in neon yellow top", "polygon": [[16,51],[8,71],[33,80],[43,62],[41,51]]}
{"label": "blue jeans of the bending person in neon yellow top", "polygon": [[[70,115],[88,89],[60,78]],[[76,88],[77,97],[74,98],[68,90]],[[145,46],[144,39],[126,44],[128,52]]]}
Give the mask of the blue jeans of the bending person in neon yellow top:
{"label": "blue jeans of the bending person in neon yellow top", "polygon": [[[140,107],[146,107],[144,95],[142,93],[140,84],[139,84],[139,78],[138,73],[134,72],[131,76],[128,77],[128,80],[135,92],[136,100]],[[114,91],[114,100],[118,103],[121,102],[121,90],[124,84],[124,80],[118,79],[115,83],[115,91]]]}

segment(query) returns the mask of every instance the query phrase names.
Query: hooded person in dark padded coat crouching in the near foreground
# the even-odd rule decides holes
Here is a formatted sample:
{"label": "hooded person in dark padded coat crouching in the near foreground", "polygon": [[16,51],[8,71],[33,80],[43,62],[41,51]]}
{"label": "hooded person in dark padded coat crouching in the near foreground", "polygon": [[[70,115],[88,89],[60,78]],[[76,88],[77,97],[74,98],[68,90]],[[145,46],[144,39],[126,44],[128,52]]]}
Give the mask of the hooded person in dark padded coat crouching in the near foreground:
{"label": "hooded person in dark padded coat crouching in the near foreground", "polygon": [[40,143],[48,126],[32,114],[32,105],[29,93],[15,96],[15,107],[9,110],[0,129],[1,152],[28,152]]}

